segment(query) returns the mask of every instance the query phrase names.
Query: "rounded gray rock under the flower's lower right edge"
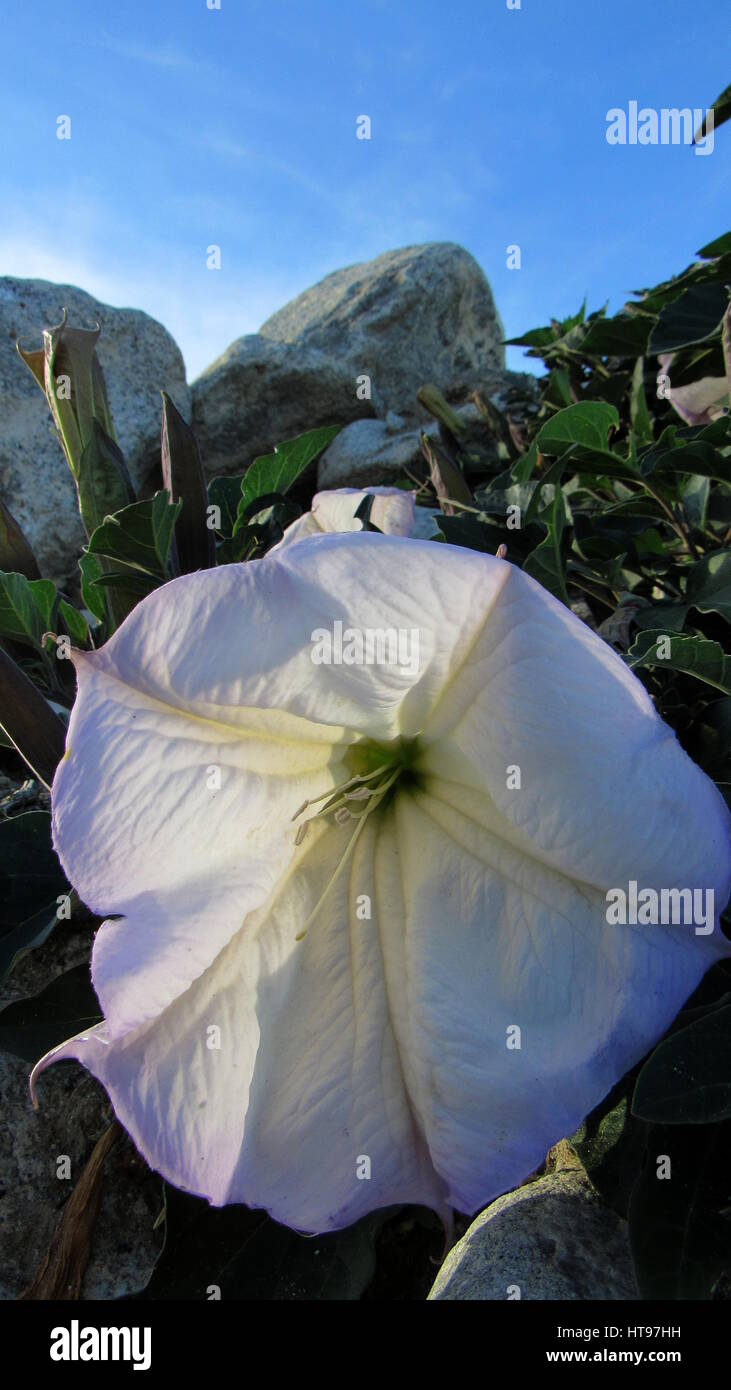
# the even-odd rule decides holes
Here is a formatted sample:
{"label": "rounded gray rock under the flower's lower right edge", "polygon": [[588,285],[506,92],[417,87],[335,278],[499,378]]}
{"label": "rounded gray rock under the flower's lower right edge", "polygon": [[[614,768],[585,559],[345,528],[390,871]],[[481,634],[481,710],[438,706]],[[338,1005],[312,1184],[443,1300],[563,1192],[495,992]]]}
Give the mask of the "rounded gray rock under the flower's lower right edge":
{"label": "rounded gray rock under the flower's lower right edge", "polygon": [[431,1300],[639,1297],[627,1225],[581,1168],[499,1197],[449,1252]]}

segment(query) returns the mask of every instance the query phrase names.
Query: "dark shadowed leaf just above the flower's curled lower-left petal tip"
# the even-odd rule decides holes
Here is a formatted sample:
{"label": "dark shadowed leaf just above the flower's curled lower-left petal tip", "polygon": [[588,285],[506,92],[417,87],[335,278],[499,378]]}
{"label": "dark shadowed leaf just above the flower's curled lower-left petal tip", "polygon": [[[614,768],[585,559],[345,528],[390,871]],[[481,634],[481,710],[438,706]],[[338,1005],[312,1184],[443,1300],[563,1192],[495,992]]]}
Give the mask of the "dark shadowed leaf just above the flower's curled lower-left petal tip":
{"label": "dark shadowed leaf just above the flower's curled lower-left petal tip", "polygon": [[0,1051],[35,1063],[53,1047],[100,1022],[89,966],[78,965],[39,994],[0,1011]]}

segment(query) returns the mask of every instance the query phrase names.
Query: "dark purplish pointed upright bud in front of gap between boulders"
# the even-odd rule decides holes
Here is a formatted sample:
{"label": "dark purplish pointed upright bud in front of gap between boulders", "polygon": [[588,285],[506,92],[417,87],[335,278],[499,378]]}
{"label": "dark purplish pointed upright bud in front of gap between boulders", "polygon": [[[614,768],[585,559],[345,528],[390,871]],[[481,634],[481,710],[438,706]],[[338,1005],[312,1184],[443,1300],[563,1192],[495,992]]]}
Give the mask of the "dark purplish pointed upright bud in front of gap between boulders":
{"label": "dark purplish pointed upright bud in front of gap between boulders", "polygon": [[175,552],[181,574],[215,564],[215,537],[207,525],[207,492],[197,439],[172,400],[163,392],[163,486],[182,503],[175,523]]}

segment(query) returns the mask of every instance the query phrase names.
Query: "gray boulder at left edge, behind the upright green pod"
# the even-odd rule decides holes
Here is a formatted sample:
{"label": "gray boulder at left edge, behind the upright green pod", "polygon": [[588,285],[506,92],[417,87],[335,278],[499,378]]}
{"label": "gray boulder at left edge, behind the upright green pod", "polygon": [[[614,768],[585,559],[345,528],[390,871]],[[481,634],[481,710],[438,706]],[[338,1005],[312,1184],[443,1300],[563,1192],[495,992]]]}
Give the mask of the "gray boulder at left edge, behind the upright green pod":
{"label": "gray boulder at left edge, behind the upright green pod", "polygon": [[15,350],[42,346],[43,328],[61,321],[101,325],[99,360],[114,428],[132,482],[142,489],[160,468],[160,391],[189,418],[182,354],[161,324],[139,309],[113,309],[72,285],[0,279],[0,495],[19,523],[47,578],[76,574],[85,541],[76,491],[43,393]]}

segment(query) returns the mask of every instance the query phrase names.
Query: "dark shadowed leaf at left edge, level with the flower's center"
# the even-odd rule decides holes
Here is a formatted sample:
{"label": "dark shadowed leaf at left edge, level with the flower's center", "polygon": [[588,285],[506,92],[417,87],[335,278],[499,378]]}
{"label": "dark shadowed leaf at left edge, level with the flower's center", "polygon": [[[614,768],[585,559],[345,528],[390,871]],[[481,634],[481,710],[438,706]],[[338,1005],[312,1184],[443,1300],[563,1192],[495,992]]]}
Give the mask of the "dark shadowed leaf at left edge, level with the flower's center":
{"label": "dark shadowed leaf at left edge, level with the flower's center", "polygon": [[50,934],[57,898],[67,887],[47,812],[29,810],[0,821],[0,981]]}

